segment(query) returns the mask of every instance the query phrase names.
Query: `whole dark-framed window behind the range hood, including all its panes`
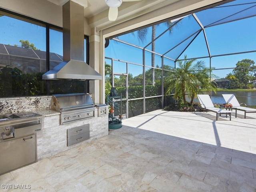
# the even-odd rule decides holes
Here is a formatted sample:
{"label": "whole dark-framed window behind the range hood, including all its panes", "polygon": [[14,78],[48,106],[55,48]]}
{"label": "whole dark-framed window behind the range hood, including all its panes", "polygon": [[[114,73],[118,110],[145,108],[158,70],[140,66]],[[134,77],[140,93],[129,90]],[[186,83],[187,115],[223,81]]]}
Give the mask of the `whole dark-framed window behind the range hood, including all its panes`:
{"label": "whole dark-framed window behind the range hood, including all its panes", "polygon": [[[63,61],[61,28],[2,9],[0,25],[0,97],[89,92],[88,81],[42,80]],[[87,36],[84,45],[88,63]]]}

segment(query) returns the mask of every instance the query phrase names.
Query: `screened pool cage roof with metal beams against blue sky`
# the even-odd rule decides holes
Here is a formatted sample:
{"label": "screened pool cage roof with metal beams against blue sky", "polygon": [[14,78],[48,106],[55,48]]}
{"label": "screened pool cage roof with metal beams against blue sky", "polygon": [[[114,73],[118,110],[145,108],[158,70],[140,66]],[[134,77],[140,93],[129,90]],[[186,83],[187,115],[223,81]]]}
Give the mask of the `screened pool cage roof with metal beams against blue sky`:
{"label": "screened pool cage roof with metal beams against blue sky", "polygon": [[[235,0],[190,15],[156,25],[152,40],[152,26],[113,40],[128,44],[170,60],[212,58],[232,54],[256,52],[256,0]],[[147,32],[139,40],[138,32]],[[133,38],[128,38],[132,35]],[[152,43],[155,49],[152,50]],[[248,44],[254,44],[248,46]]]}

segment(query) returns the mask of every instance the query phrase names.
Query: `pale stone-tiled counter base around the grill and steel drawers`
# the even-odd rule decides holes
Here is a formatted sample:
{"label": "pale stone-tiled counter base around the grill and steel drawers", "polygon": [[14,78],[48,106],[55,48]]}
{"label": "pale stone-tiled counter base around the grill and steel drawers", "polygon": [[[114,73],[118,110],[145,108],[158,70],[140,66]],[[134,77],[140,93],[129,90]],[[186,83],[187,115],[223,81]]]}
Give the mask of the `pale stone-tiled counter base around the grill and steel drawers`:
{"label": "pale stone-tiled counter base around the grill and steel drawers", "polygon": [[60,112],[52,109],[33,110],[43,116],[42,130],[36,133],[37,141],[37,157],[38,160],[51,157],[55,154],[80,145],[67,146],[68,134],[67,130],[80,126],[89,126],[90,138],[84,140],[82,143],[89,143],[96,138],[101,138],[108,135],[108,116],[98,116],[98,108],[94,118],[86,118],[68,124],[60,124]]}

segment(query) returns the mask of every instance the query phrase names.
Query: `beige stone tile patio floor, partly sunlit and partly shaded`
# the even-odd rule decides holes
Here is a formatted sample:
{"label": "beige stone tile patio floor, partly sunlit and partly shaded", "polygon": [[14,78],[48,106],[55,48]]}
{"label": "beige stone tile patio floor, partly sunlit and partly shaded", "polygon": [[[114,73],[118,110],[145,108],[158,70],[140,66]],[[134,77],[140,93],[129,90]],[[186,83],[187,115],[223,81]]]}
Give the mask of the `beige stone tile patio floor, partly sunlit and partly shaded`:
{"label": "beige stone tile patio floor, partly sunlit and partly shaded", "polygon": [[[0,176],[0,191],[256,192],[256,113],[156,110]],[[30,184],[6,190],[3,184]]]}

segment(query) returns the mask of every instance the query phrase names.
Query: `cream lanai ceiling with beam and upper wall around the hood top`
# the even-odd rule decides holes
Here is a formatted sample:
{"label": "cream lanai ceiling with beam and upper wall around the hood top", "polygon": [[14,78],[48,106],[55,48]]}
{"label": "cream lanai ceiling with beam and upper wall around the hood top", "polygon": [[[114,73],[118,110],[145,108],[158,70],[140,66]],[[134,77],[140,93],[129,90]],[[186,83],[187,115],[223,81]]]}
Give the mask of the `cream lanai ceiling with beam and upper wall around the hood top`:
{"label": "cream lanai ceiling with beam and upper wall around the hood top", "polygon": [[[1,0],[0,8],[62,27],[62,6],[68,0]],[[122,2],[115,21],[108,20],[105,0],[72,0],[84,7],[85,34],[102,32],[103,38],[196,12],[233,0],[140,0]]]}

